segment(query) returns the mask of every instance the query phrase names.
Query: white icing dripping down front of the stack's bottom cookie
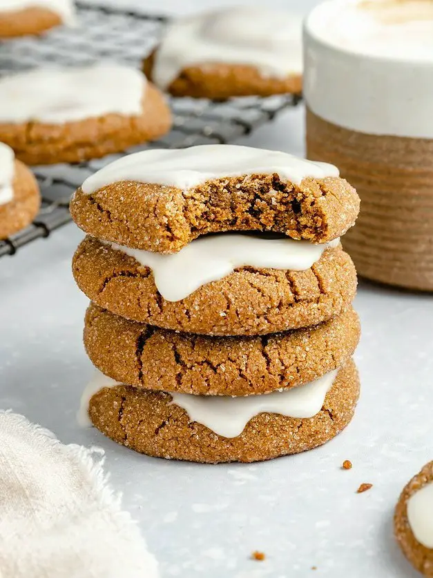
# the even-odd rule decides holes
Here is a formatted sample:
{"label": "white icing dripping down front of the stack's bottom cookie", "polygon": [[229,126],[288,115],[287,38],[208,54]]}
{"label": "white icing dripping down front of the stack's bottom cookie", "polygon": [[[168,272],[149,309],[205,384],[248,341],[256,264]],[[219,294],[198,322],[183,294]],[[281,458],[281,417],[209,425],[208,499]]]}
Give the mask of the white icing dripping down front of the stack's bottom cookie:
{"label": "white icing dripping down front of the stack's bottom cookie", "polygon": [[191,421],[202,423],[218,435],[237,437],[249,420],[260,413],[294,418],[313,417],[320,411],[338,370],[303,386],[267,395],[225,397],[171,393],[173,403],[184,408]]}

